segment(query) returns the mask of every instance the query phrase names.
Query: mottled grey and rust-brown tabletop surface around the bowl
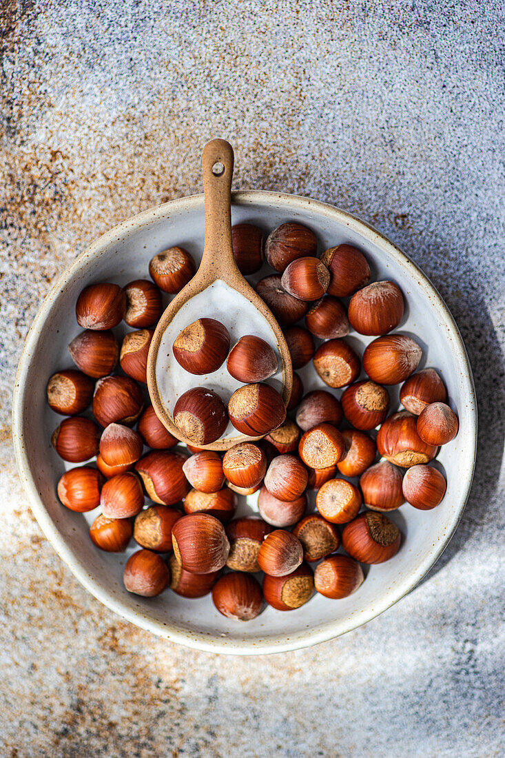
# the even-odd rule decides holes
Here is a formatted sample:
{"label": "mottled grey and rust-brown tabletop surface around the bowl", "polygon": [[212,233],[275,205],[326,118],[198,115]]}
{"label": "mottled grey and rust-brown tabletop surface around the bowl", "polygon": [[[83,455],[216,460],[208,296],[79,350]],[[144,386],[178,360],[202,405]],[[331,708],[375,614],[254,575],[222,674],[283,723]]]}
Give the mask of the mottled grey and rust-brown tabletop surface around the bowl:
{"label": "mottled grey and rust-brown tabletop surface around the bowl", "polygon": [[[4,0],[0,165],[0,753],[503,755],[503,4]],[[375,224],[434,281],[475,372],[463,521],[394,608],[311,650],[237,659],[108,612],[42,537],[11,387],[49,283],[108,227],[235,186]]]}

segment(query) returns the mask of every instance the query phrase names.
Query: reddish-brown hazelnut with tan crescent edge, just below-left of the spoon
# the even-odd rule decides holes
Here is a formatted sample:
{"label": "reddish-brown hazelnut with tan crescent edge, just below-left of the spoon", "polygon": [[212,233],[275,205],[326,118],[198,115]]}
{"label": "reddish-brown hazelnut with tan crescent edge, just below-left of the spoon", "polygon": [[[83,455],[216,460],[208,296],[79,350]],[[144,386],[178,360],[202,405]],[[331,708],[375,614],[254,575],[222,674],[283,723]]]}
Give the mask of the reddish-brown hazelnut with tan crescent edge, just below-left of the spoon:
{"label": "reddish-brown hazelnut with tan crescent edge, just below-left of the spoon", "polygon": [[171,450],[155,450],[136,462],[147,496],[162,506],[174,506],[190,491],[184,476],[186,456]]}

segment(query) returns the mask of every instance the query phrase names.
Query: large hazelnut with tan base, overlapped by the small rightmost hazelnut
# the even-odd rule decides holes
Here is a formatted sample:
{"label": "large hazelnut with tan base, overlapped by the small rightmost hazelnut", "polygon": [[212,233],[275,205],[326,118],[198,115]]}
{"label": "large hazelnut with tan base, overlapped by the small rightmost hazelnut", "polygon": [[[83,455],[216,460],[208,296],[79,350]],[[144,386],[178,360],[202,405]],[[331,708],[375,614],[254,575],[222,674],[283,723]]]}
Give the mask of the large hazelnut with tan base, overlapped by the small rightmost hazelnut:
{"label": "large hazelnut with tan base, overlapped by the small rightmost hazelnut", "polygon": [[406,411],[394,413],[384,421],[377,435],[377,449],[390,463],[410,468],[428,463],[437,454],[437,446],[424,442],[417,432],[416,416]]}

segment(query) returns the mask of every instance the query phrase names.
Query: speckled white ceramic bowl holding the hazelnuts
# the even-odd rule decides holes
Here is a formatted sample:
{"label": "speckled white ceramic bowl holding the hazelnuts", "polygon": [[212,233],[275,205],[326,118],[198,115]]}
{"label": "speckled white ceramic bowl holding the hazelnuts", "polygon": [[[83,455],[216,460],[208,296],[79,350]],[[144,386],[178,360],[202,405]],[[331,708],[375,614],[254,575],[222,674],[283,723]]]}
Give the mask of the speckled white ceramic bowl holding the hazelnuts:
{"label": "speckled white ceramic bowl holding the hazelnuts", "polygon": [[[252,221],[265,231],[283,221],[300,221],[318,234],[320,251],[344,242],[356,245],[369,259],[372,278],[392,279],[405,294],[406,314],[399,330],[421,343],[424,354],[419,368],[428,365],[440,371],[459,415],[460,431],[438,456],[447,475],[441,505],[419,511],[405,504],[391,514],[404,534],[397,556],[367,568],[365,582],[345,600],[315,595],[300,609],[279,612],[267,607],[254,621],[240,624],[220,615],[209,596],[185,600],[170,590],[152,599],[128,594],[122,573],[133,547],[127,554],[103,553],[88,536],[96,512],[78,514],[59,503],[55,490],[64,464],[52,449],[50,437],[61,417],[45,402],[45,384],[54,371],[72,365],[67,343],[80,330],[74,316],[77,296],[92,282],[125,284],[146,278],[152,255],[171,245],[187,248],[198,261],[205,227],[203,196],[174,200],[125,221],[64,271],[43,302],[20,359],[14,390],[14,446],[21,478],[45,536],[102,603],[133,624],[190,647],[219,653],[274,653],[316,644],[369,622],[409,592],[438,559],[460,519],[472,482],[475,390],[463,342],[441,297],[419,268],[372,227],[331,205],[256,191],[233,194],[232,218],[233,223]],[[267,273],[265,267],[253,278],[256,281]],[[370,341],[354,333],[349,340],[359,352]],[[324,387],[311,366],[300,374],[306,391]],[[397,402],[397,396],[393,399]],[[254,502],[255,496],[248,504],[244,501],[238,513],[251,512]]]}

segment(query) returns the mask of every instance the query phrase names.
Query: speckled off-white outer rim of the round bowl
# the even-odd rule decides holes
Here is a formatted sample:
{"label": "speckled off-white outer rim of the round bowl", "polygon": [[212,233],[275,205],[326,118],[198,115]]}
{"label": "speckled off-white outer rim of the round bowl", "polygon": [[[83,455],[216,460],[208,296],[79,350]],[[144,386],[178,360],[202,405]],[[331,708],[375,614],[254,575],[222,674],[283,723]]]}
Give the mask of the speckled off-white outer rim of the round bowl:
{"label": "speckled off-white outer rim of the round bowl", "polygon": [[33,472],[30,470],[30,463],[28,461],[24,440],[24,397],[27,392],[27,374],[30,368],[31,355],[33,354],[33,350],[39,339],[39,334],[45,324],[45,319],[49,315],[49,310],[52,308],[53,301],[58,293],[60,293],[67,281],[71,280],[83,268],[83,266],[86,265],[86,262],[90,258],[94,258],[102,252],[105,252],[105,249],[107,249],[108,246],[111,246],[112,243],[117,244],[118,241],[124,240],[133,232],[133,230],[140,230],[141,228],[147,227],[149,224],[153,224],[162,218],[167,218],[172,214],[190,211],[203,206],[204,197],[202,193],[174,199],[165,202],[162,205],[156,205],[152,208],[148,208],[146,211],[142,211],[140,214],[128,218],[121,224],[106,231],[102,236],[99,236],[83,252],[81,252],[73,262],[71,262],[71,265],[64,269],[51,290],[49,290],[49,293],[45,296],[42,305],[40,305],[39,311],[30,326],[30,330],[28,331],[21,352],[14,380],[12,437],[17,468],[20,473],[21,482],[24,485],[24,490],[27,493],[33,515],[35,515],[40,528],[42,528],[42,532],[45,534],[45,537],[47,537],[49,542],[52,543],[52,546],[55,548],[58,555],[61,556],[77,580],[80,581],[80,584],[96,597],[97,600],[134,625],[146,629],[146,631],[151,631],[153,634],[158,635],[158,637],[164,637],[169,641],[183,644],[186,647],[210,653],[263,655],[266,653],[283,653],[289,650],[312,647],[312,645],[331,640],[334,637],[339,637],[340,634],[346,634],[348,631],[359,628],[359,626],[362,626],[366,622],[375,619],[376,616],[380,615],[388,608],[391,608],[394,603],[397,603],[398,600],[416,587],[419,581],[421,581],[421,579],[427,574],[447,547],[447,544],[450,542],[450,539],[460,522],[460,518],[463,515],[475,470],[477,405],[475,402],[475,384],[472,376],[472,368],[469,363],[463,339],[453,316],[441,295],[438,293],[438,290],[436,290],[419,266],[412,262],[409,256],[392,243],[384,234],[347,211],[336,208],[329,203],[314,200],[305,196],[271,192],[269,190],[243,189],[232,191],[231,203],[232,207],[233,205],[274,205],[287,212],[306,211],[310,208],[311,211],[315,211],[318,215],[325,218],[331,218],[332,221],[338,221],[340,224],[350,227],[350,229],[362,234],[366,239],[381,247],[387,255],[396,260],[398,265],[400,265],[400,268],[405,269],[412,267],[418,274],[419,287],[422,287],[422,289],[425,290],[425,293],[431,296],[434,307],[437,307],[444,317],[444,323],[447,326],[447,330],[449,330],[453,337],[452,352],[460,358],[462,365],[466,368],[465,378],[468,384],[469,396],[474,400],[474,402],[469,404],[469,414],[471,419],[469,424],[469,440],[467,444],[467,448],[472,452],[472,465],[463,473],[464,494],[453,515],[453,522],[451,523],[450,528],[447,529],[446,534],[443,539],[441,539],[436,550],[428,553],[425,556],[425,559],[420,562],[419,571],[416,572],[416,575],[409,575],[403,581],[395,584],[394,588],[377,599],[377,602],[374,603],[373,609],[364,610],[361,617],[359,620],[356,620],[356,622],[350,621],[349,619],[347,619],[347,623],[345,619],[340,621],[335,620],[333,624],[326,624],[324,628],[318,631],[310,631],[306,629],[305,631],[299,631],[296,633],[291,632],[289,637],[284,634],[274,641],[268,639],[265,640],[265,638],[262,639],[260,636],[249,640],[217,639],[202,632],[190,630],[182,631],[177,628],[171,628],[171,625],[168,623],[164,624],[163,622],[151,619],[142,609],[130,609],[120,599],[112,597],[98,581],[95,581],[89,575],[85,565],[74,556],[71,548],[67,547],[63,537],[58,533],[58,529],[52,522],[52,518],[50,518],[49,513],[46,511],[42,498],[37,491],[36,481]]}

